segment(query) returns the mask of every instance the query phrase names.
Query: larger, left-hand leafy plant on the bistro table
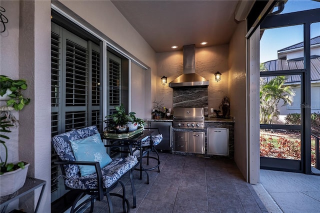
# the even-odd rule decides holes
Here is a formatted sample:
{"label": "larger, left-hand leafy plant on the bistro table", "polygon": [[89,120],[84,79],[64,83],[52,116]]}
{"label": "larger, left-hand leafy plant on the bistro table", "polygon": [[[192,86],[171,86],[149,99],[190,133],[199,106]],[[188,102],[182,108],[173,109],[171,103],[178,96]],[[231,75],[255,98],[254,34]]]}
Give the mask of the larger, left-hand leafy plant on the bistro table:
{"label": "larger, left-hand leafy plant on the bistro table", "polygon": [[123,104],[119,106],[114,106],[114,109],[116,110],[115,113],[109,114],[105,116],[104,122],[107,124],[108,131],[113,131],[117,133],[124,133],[127,131],[127,122],[128,117],[125,113],[125,108]]}

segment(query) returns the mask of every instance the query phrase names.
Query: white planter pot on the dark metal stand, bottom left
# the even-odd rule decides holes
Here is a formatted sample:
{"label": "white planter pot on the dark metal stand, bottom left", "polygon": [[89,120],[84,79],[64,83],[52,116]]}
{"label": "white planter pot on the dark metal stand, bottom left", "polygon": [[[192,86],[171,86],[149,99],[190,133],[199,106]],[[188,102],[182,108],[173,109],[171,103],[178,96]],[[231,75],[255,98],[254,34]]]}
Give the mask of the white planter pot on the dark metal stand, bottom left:
{"label": "white planter pot on the dark metal stand, bottom left", "polygon": [[18,168],[0,175],[0,196],[11,194],[23,186],[29,165],[27,163],[23,169]]}

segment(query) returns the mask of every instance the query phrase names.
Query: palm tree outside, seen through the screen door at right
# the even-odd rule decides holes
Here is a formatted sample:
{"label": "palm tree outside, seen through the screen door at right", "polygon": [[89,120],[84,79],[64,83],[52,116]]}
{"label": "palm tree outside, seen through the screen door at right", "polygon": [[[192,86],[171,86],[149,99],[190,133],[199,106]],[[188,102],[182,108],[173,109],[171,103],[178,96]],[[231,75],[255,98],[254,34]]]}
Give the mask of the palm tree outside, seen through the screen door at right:
{"label": "palm tree outside, seen through the screen door at right", "polygon": [[275,76],[269,81],[260,78],[260,123],[271,124],[278,118],[280,100],[283,100],[282,106],[292,103],[294,91],[284,85],[285,80],[285,76]]}

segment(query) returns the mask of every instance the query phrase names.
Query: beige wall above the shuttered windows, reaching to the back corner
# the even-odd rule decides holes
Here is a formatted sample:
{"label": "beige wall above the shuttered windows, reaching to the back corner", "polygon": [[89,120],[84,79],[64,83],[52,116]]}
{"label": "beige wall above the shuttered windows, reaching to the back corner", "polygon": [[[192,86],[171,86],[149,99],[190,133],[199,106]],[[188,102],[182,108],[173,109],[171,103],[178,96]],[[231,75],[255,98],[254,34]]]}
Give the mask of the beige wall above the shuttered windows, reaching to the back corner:
{"label": "beige wall above the shuttered windows, reaching to the back corner", "polygon": [[150,67],[146,70],[147,79],[145,83],[140,85],[142,89],[147,91],[145,93],[146,102],[135,102],[138,105],[132,106],[145,107],[146,111],[150,111],[151,99],[153,99],[157,89],[154,50],[129,24],[111,1],[60,0],[60,2]]}

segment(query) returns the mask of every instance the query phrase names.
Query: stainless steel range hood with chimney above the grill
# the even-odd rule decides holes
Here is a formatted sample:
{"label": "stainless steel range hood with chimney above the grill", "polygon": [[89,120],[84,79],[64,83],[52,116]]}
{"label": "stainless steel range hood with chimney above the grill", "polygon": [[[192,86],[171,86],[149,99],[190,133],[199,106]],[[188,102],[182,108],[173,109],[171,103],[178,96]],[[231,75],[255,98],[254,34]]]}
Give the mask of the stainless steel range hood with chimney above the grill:
{"label": "stainless steel range hood with chimney above the grill", "polygon": [[183,74],[169,82],[170,87],[207,87],[209,81],[195,73],[195,45],[183,46]]}

